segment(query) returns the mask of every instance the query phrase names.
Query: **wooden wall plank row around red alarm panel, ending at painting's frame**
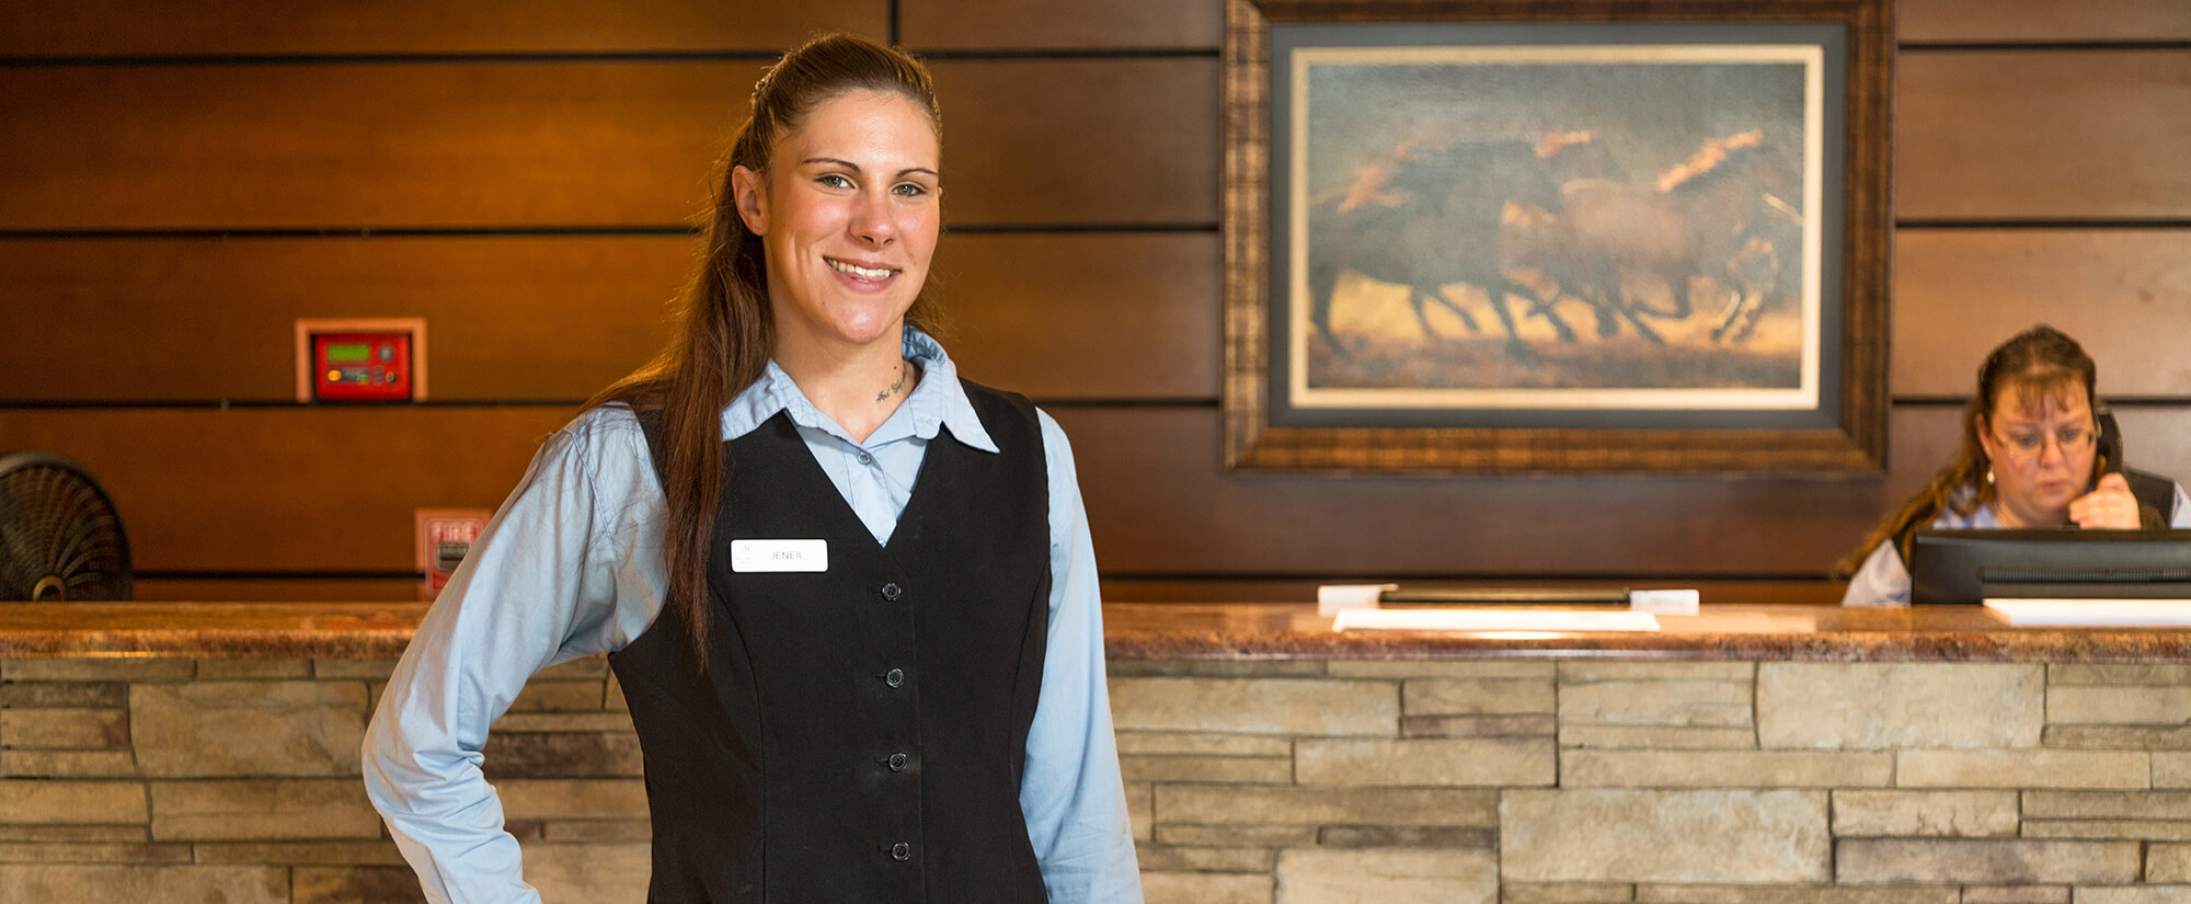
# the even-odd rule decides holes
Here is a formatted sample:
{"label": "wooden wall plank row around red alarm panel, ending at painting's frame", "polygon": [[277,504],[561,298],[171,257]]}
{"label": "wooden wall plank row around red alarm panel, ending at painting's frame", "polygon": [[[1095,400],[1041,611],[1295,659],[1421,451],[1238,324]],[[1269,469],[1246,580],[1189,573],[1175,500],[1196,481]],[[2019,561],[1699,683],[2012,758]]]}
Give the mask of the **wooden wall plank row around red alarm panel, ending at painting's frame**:
{"label": "wooden wall plank row around red alarm panel, ending at painting's frame", "polygon": [[[289,399],[307,316],[425,318],[440,402],[583,399],[662,347],[697,255],[684,235],[0,241],[0,402]],[[933,279],[973,380],[1207,399],[1216,270],[1216,235],[949,235]]]}

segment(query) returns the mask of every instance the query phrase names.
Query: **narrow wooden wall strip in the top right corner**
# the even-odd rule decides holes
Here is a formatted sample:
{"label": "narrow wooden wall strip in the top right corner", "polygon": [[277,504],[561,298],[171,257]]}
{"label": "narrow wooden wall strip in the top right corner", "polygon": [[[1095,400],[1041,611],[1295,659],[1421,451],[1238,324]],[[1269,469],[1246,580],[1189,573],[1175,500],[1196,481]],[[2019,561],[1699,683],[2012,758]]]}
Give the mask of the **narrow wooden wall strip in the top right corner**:
{"label": "narrow wooden wall strip in the top right corner", "polygon": [[1902,42],[2182,42],[2182,0],[1895,0]]}

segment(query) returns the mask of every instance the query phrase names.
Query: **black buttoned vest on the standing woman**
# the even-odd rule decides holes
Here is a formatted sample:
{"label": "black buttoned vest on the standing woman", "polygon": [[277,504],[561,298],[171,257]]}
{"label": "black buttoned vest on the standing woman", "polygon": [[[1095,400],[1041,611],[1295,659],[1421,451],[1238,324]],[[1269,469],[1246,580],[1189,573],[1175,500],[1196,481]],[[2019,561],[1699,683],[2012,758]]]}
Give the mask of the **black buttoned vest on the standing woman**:
{"label": "black buttoned vest on the standing woman", "polygon": [[[1001,454],[936,437],[887,546],[787,415],[727,443],[706,671],[670,610],[609,656],[646,761],[649,902],[1045,902],[1019,810],[1043,434],[1028,399],[964,386]],[[640,426],[659,474],[659,419]],[[815,538],[826,573],[730,570],[732,540]]]}

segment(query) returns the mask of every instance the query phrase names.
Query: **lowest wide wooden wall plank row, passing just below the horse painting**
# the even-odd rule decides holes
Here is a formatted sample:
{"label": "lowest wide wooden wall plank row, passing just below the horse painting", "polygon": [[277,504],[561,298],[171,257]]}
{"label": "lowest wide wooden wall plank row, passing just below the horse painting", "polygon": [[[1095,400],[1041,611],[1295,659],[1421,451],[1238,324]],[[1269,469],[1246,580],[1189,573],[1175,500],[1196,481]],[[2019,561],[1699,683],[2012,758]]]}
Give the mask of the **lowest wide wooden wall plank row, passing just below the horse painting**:
{"label": "lowest wide wooden wall plank row, passing just below the horse painting", "polygon": [[[408,573],[412,509],[493,509],[561,408],[0,410],[83,461],[138,568]],[[1098,562],[1124,575],[1823,575],[1954,445],[1897,408],[1882,481],[1229,476],[1205,408],[1058,408]],[[2121,413],[2130,463],[2191,474],[2191,408]],[[1792,516],[1801,513],[1801,516]]]}

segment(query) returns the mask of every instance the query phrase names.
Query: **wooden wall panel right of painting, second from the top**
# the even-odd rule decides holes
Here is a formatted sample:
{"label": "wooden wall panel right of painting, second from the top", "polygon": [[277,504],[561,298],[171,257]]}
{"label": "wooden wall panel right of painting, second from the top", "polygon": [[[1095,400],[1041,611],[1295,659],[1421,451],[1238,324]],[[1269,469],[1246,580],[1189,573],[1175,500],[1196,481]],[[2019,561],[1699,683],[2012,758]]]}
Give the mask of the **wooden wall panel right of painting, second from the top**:
{"label": "wooden wall panel right of painting, second from the top", "polygon": [[1897,219],[2191,217],[2191,50],[1904,53]]}

